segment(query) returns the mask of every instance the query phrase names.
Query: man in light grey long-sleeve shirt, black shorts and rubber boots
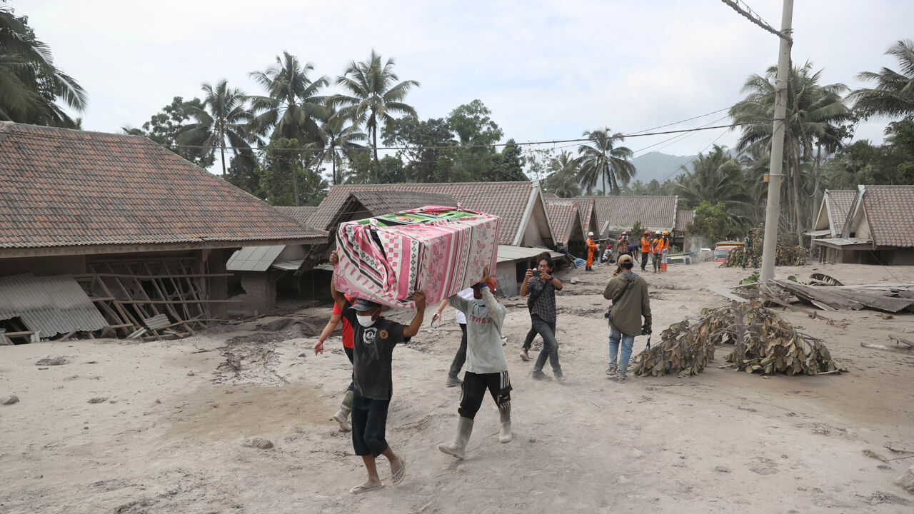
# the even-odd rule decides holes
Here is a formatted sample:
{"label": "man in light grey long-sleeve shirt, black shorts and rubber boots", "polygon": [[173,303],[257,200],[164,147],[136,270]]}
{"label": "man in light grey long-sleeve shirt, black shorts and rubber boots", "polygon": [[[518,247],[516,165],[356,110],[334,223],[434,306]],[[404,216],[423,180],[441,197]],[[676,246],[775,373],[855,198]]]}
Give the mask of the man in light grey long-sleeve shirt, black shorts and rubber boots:
{"label": "man in light grey long-sleeve shirt, black shorts and rubber boots", "polygon": [[483,404],[485,390],[492,393],[501,414],[501,432],[498,440],[511,441],[511,380],[508,379],[508,361],[502,348],[502,324],[507,309],[495,300],[494,277],[488,268],[483,280],[473,285],[473,301],[458,294],[448,298],[448,303],[466,315],[466,371],[457,422],[457,437],[453,444],[439,444],[438,449],[459,459],[463,458],[466,444],[473,434],[473,418]]}

